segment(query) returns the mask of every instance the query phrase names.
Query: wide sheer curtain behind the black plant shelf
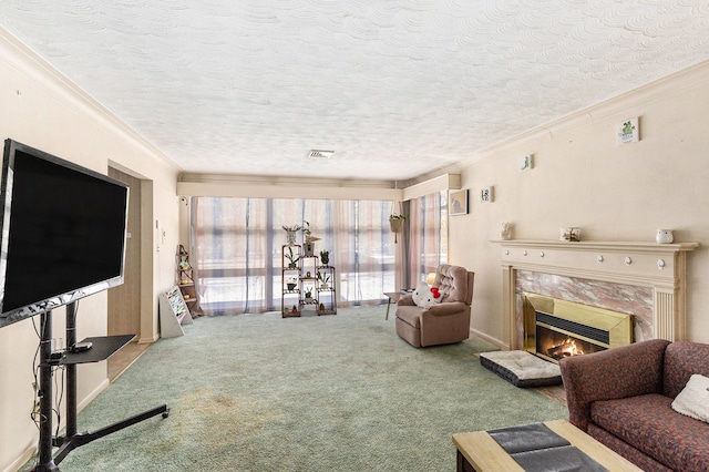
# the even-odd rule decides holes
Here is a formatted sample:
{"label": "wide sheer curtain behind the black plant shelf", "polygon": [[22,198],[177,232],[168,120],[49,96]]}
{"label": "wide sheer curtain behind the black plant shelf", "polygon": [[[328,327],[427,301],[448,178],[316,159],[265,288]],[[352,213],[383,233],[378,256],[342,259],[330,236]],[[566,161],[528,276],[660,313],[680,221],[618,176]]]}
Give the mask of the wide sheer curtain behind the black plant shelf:
{"label": "wide sheer curtain behind the black plant shelf", "polygon": [[[194,197],[199,307],[207,315],[280,310],[284,226],[306,225],[330,252],[338,306],[379,304],[398,286],[391,202]],[[302,242],[302,234],[298,235]]]}

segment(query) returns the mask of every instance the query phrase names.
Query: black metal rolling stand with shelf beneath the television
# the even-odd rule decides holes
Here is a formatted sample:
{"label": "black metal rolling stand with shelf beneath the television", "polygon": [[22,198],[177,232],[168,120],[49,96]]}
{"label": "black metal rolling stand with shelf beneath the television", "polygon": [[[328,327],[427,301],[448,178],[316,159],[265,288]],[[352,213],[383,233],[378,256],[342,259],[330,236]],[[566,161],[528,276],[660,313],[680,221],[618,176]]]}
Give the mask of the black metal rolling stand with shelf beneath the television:
{"label": "black metal rolling stand with shelf beneath the television", "polygon": [[[75,320],[76,302],[74,301],[66,306],[68,347],[76,343]],[[86,338],[82,342],[91,342],[91,349],[83,352],[66,352],[66,355],[60,359],[52,359],[51,310],[41,314],[41,325],[40,389],[42,397],[40,399],[39,465],[34,468],[35,472],[59,471],[58,464],[66,454],[81,445],[158,414],[162,414],[163,418],[168,417],[169,409],[167,404],[162,404],[93,432],[76,432],[76,365],[106,360],[131,342],[131,340],[135,338],[135,335]],[[52,368],[61,365],[66,366],[66,431],[64,435],[52,437]],[[53,447],[59,448],[54,455],[52,455]]]}

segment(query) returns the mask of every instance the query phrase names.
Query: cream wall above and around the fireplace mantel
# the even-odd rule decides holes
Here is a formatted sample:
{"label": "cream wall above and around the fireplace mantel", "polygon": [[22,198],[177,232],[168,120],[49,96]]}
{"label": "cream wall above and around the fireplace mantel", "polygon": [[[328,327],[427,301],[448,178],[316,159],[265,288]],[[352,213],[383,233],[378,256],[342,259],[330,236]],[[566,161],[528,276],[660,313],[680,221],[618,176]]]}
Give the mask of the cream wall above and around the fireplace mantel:
{"label": "cream wall above and around the fireplace mantel", "polygon": [[[616,126],[640,116],[639,143],[618,146]],[[508,342],[502,320],[503,222],[514,239],[654,242],[658,228],[696,242],[688,255],[688,340],[709,342],[709,63],[511,140],[463,171],[470,214],[450,220],[450,259],[475,271],[472,328]],[[534,168],[518,161],[534,154]],[[494,202],[480,189],[494,186]]]}

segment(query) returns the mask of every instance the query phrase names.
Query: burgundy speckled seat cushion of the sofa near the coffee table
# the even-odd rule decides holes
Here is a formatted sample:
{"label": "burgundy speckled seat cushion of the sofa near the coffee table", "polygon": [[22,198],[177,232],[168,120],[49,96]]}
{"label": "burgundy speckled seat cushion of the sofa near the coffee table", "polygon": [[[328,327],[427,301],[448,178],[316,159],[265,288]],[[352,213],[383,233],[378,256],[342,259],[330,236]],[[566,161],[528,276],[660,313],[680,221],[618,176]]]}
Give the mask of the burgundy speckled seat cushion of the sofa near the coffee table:
{"label": "burgundy speckled seat cushion of the sofa near the coffee table", "polygon": [[671,403],[655,393],[596,401],[590,418],[670,469],[709,471],[709,425],[677,413]]}

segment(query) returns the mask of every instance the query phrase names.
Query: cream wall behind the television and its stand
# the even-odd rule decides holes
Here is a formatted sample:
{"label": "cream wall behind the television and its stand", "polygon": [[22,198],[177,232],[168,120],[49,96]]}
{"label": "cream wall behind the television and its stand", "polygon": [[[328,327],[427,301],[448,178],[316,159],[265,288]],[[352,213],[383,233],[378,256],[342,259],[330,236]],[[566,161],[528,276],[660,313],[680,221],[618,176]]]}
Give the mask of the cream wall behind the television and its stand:
{"label": "cream wall behind the television and its stand", "polygon": [[[154,320],[156,332],[157,293],[174,283],[178,170],[1,29],[0,110],[2,140],[11,137],[103,174],[107,173],[111,162],[152,183],[153,208],[148,208],[148,213],[161,220],[167,235],[165,250],[153,249],[153,267],[147,270],[153,278],[154,302],[147,307],[151,312],[146,317]],[[37,188],[37,195],[38,198],[56,197],[43,195],[42,188]],[[106,305],[105,293],[80,302],[80,339],[106,334]],[[54,332],[61,332],[64,310],[54,310],[53,320]],[[33,404],[32,359],[38,341],[32,320],[0,329],[0,471],[20,466],[37,445],[38,432],[30,420],[30,411]],[[81,366],[80,406],[106,384],[105,362]],[[126,412],[126,417],[141,411]]]}

